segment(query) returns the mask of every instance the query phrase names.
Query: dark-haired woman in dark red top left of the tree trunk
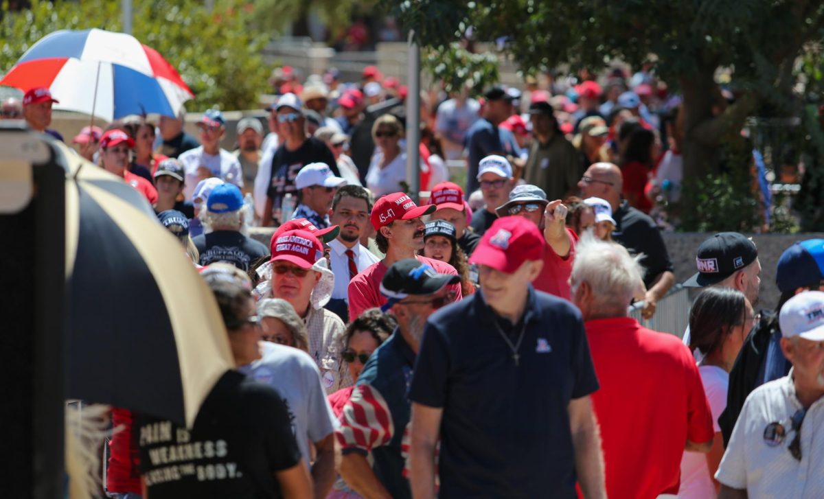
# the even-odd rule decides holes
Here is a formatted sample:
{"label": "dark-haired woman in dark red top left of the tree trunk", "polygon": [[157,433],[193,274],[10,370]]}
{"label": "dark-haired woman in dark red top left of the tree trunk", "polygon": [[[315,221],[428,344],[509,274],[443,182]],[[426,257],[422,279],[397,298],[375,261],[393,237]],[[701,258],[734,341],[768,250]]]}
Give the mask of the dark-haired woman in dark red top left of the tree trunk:
{"label": "dark-haired woman in dark red top left of the tree trunk", "polygon": [[619,166],[624,179],[624,190],[621,194],[624,194],[630,206],[644,213],[653,208],[653,202],[644,194],[644,189],[649,180],[649,172],[658,160],[659,150],[655,133],[639,127],[627,138],[626,149],[620,158]]}

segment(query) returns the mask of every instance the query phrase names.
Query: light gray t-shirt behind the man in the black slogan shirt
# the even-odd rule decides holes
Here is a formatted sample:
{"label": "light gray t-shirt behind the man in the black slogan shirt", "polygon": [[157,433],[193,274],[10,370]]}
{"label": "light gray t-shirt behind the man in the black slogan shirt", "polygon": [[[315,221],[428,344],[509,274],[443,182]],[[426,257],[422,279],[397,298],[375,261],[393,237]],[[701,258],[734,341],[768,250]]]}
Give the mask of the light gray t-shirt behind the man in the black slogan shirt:
{"label": "light gray t-shirt behind the man in the black slogan shirt", "polygon": [[261,342],[263,357],[238,371],[272,386],[283,398],[303,461],[311,462],[309,442],[328,436],[338,420],[321,386],[321,373],[305,352],[277,343]]}

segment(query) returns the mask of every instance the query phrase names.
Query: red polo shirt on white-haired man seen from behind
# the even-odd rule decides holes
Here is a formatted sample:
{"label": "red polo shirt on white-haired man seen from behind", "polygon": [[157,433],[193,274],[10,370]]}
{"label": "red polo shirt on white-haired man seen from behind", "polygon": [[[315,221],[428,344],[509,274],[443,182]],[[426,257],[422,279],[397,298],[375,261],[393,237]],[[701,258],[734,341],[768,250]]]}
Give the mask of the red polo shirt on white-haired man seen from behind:
{"label": "red polo shirt on white-haired man seen from behind", "polygon": [[686,441],[704,443],[714,434],[689,348],[629,317],[584,325],[601,384],[591,397],[601,427],[606,495],[677,494]]}

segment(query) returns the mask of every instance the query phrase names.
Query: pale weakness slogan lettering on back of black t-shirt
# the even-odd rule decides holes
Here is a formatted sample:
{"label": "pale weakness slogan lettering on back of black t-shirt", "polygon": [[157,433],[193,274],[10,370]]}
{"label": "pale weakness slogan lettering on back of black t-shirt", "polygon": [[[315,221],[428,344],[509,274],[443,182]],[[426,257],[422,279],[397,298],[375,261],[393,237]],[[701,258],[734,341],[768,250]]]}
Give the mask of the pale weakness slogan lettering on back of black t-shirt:
{"label": "pale weakness slogan lettering on back of black t-shirt", "polygon": [[196,478],[199,482],[241,478],[237,463],[224,461],[227,441],[191,441],[190,432],[169,421],[140,428],[140,445],[148,450],[151,470],[144,478],[147,487],[158,483]]}

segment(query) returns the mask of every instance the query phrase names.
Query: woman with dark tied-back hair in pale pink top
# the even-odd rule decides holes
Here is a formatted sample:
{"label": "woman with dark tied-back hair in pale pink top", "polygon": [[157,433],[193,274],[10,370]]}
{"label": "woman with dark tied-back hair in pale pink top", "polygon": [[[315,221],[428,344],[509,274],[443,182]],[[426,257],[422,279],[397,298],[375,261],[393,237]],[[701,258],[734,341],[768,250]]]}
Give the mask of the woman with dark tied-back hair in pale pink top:
{"label": "woman with dark tied-back hair in pale pink top", "polygon": [[719,483],[713,478],[723,456],[718,420],[727,407],[729,371],[752,329],[753,320],[750,302],[741,291],[733,288],[707,287],[692,304],[690,349],[698,348],[704,354],[698,371],[713,415],[715,436],[712,450],[707,455],[684,451],[680,498],[704,499],[718,493]]}

